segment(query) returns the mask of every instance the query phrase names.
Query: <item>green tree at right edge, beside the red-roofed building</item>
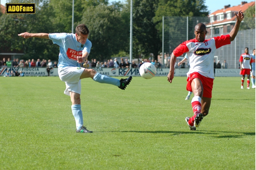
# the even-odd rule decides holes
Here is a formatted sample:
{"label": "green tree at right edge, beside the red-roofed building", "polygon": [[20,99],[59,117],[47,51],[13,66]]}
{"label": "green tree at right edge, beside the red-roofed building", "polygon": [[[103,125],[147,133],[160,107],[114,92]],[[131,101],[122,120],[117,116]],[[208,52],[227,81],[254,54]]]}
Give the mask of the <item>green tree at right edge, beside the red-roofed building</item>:
{"label": "green tree at right edge, beside the red-roofed building", "polygon": [[244,30],[244,29],[255,29],[255,5],[250,6],[244,12],[244,19],[240,25],[239,30]]}

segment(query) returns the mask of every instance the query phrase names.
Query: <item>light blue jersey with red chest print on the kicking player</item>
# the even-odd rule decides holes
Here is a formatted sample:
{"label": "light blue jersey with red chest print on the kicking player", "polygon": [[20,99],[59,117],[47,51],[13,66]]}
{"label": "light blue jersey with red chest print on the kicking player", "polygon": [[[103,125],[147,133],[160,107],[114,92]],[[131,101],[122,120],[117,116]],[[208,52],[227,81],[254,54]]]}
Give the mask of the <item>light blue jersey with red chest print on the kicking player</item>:
{"label": "light blue jersey with red chest print on the kicking player", "polygon": [[92,43],[87,39],[85,44],[81,44],[76,41],[76,34],[67,33],[53,33],[49,34],[50,40],[54,44],[60,46],[59,63],[58,67],[80,67],[77,62],[77,56],[83,55],[83,53],[90,53]]}

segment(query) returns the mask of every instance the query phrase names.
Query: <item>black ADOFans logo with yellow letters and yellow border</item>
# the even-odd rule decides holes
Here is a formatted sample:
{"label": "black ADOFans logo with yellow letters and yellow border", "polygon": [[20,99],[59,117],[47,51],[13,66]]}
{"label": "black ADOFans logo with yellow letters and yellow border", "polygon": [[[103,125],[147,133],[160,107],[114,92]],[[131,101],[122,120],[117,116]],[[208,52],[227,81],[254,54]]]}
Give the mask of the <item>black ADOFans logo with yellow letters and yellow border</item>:
{"label": "black ADOFans logo with yellow letters and yellow border", "polygon": [[6,14],[35,14],[36,4],[6,4]]}

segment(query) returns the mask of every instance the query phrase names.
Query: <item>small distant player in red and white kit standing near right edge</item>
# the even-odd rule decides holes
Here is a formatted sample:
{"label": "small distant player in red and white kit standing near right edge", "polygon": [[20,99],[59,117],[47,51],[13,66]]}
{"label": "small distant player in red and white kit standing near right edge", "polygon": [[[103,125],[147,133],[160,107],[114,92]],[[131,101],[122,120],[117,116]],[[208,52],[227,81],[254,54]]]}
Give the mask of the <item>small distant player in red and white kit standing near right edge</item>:
{"label": "small distant player in red and white kit standing near right edge", "polygon": [[248,47],[246,47],[244,49],[244,54],[241,55],[239,61],[240,61],[240,66],[241,66],[240,74],[242,75],[241,89],[244,89],[245,74],[247,74],[247,89],[250,89],[250,74],[251,74],[251,68],[252,68],[252,55],[249,54]]}

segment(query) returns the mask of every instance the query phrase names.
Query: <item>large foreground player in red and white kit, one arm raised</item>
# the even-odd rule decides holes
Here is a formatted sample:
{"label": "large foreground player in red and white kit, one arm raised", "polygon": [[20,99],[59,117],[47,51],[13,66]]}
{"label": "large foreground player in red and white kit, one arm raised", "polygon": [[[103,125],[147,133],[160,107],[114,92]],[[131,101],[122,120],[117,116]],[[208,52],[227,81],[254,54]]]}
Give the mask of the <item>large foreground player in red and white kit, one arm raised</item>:
{"label": "large foreground player in red and white kit, one arm raised", "polygon": [[[236,13],[235,13],[236,14]],[[170,59],[170,73],[167,80],[172,83],[174,78],[174,64],[176,57],[187,53],[190,69],[187,73],[187,90],[194,93],[191,104],[194,116],[186,117],[186,122],[190,130],[196,130],[199,127],[203,117],[209,112],[212,100],[212,86],[214,79],[213,59],[217,48],[230,44],[236,37],[241,21],[244,18],[241,10],[236,14],[236,24],[229,35],[222,35],[205,40],[207,33],[204,24],[199,23],[195,27],[196,38],[185,41],[173,50]]]}

